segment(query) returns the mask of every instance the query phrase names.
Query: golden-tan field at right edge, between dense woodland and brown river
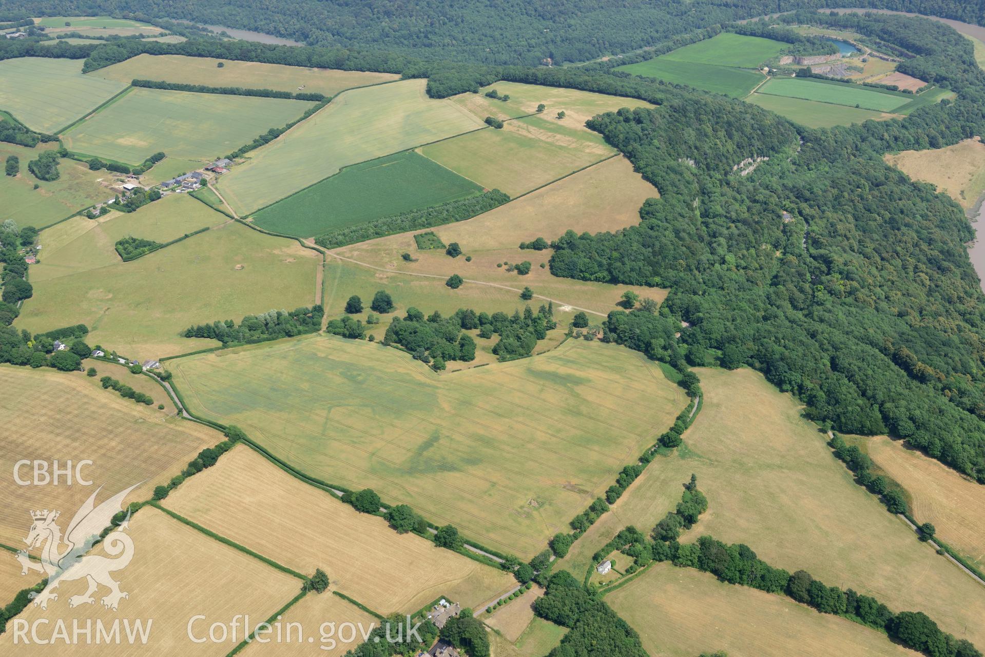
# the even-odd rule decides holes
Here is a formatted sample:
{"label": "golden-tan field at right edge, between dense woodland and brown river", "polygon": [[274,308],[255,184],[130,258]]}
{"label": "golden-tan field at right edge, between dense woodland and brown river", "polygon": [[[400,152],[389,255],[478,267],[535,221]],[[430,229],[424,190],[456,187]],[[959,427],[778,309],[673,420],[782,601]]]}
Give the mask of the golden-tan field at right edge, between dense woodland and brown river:
{"label": "golden-tan field at right edge, between dense woodland and brown river", "polygon": [[985,193],[985,144],[977,137],[944,149],[887,154],[886,161],[914,180],[937,185],[964,209]]}

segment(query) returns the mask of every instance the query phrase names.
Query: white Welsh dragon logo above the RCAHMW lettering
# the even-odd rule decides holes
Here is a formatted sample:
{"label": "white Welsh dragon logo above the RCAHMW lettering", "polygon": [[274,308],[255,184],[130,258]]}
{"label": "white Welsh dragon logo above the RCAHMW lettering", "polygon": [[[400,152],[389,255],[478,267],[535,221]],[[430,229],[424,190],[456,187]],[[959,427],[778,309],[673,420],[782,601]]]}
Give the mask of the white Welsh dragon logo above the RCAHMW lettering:
{"label": "white Welsh dragon logo above the RCAHMW lettering", "polygon": [[[83,594],[70,597],[69,607],[95,604],[96,599],[93,594],[97,593],[99,586],[109,589],[100,600],[106,609],[116,611],[120,600],[130,597],[128,593],[120,590],[120,583],[110,575],[111,572],[127,567],[133,559],[133,541],[124,533],[129,528],[130,513],[127,512],[126,519],[102,540],[103,550],[115,559],[87,553],[99,540],[99,533],[109,525],[113,515],[122,510],[123,500],[137,486],[140,484],[117,493],[97,507],[96,496],[102,490],[100,486],[99,490],[75,512],[64,536],[56,522],[60,511],[47,509],[31,511],[33,521],[31,531],[24,539],[28,549],[17,553],[17,561],[21,564],[22,575],[32,570],[47,574],[47,585],[40,593],[32,594],[35,607],[47,609],[49,601],[58,600],[55,589],[63,582],[79,579],[85,579],[89,588]],[[37,548],[41,548],[39,562],[29,557],[29,552]]]}

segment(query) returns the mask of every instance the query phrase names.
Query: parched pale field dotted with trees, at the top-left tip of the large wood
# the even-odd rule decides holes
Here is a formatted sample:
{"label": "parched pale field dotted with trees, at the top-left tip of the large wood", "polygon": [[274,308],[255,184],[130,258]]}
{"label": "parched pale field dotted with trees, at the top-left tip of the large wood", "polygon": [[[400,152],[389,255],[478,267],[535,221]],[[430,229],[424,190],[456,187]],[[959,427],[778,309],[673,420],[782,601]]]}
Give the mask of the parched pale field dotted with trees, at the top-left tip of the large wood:
{"label": "parched pale field dotted with trees, at the top-left tip of the large wood", "polygon": [[[489,90],[496,90],[500,95],[509,95],[509,100],[503,102],[489,98],[486,96]],[[483,120],[487,116],[509,119],[533,114],[537,111],[537,106],[543,103],[546,105],[544,116],[557,116],[559,111],[563,111],[567,115],[565,125],[586,132],[591,131],[585,127],[585,121],[596,114],[615,112],[621,107],[632,109],[652,106],[636,98],[511,82],[497,82],[483,87],[479,93],[461,93],[452,99]]]}

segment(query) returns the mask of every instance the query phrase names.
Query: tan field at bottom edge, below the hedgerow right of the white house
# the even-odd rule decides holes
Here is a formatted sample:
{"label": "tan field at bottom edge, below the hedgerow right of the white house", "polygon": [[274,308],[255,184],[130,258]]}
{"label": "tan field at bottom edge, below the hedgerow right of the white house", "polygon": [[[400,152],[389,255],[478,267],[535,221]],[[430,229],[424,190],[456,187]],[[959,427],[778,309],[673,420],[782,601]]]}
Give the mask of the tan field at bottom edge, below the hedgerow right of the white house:
{"label": "tan field at bottom edge, below the hedgerow right of the white house", "polygon": [[790,598],[726,584],[707,572],[654,564],[606,596],[652,657],[912,656],[886,634]]}

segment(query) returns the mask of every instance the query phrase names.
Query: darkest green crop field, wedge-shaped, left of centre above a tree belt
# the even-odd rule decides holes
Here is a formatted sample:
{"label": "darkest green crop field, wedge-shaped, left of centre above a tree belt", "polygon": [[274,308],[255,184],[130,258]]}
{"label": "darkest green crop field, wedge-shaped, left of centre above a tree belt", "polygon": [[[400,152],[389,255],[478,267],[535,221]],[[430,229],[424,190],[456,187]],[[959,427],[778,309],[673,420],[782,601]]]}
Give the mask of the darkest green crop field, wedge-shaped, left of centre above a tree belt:
{"label": "darkest green crop field, wedge-shaped, left of centre above a tree belt", "polygon": [[253,216],[261,228],[310,237],[409,209],[482,193],[483,188],[413,150],[347,167]]}

